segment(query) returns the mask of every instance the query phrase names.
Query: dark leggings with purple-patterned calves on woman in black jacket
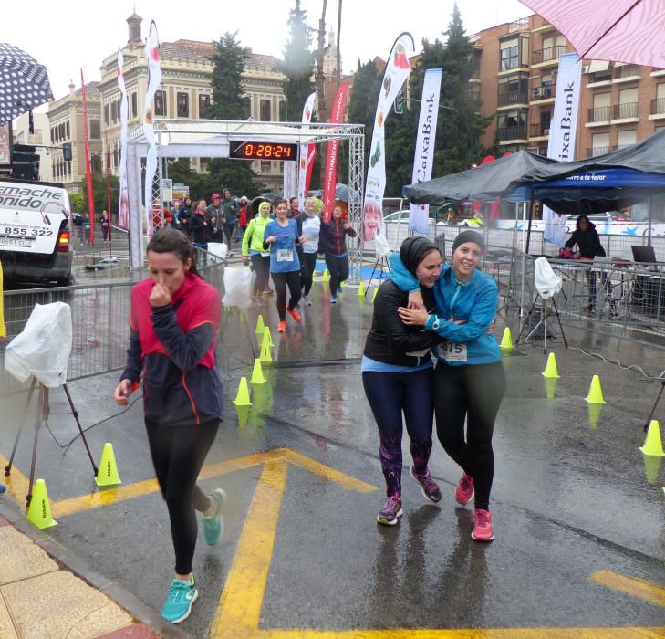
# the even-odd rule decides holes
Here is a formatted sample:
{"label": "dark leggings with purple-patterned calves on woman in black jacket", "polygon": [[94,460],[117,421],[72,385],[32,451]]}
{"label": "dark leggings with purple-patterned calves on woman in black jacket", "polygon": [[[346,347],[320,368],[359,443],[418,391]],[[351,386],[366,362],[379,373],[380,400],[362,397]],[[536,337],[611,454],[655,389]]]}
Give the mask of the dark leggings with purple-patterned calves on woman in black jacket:
{"label": "dark leggings with purple-patterned calves on woman in black jacket", "polygon": [[386,495],[401,498],[402,413],[410,439],[413,466],[419,475],[427,471],[431,453],[431,368],[415,372],[363,372],[362,384],[379,426],[379,458]]}

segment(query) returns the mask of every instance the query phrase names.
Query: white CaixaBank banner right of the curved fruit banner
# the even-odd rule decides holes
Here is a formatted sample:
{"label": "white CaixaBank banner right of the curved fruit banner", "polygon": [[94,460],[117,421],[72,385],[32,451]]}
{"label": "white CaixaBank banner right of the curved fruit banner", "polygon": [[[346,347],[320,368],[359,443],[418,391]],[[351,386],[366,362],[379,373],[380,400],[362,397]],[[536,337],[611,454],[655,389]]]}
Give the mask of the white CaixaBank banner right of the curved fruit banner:
{"label": "white CaixaBank banner right of the curved fruit banner", "polygon": [[[441,79],[441,68],[428,68],[425,71],[425,78],[422,82],[421,117],[418,120],[416,152],[413,156],[413,183],[426,182],[431,178],[436,122],[439,117]],[[409,230],[426,236],[429,217],[429,204],[410,204]]]}

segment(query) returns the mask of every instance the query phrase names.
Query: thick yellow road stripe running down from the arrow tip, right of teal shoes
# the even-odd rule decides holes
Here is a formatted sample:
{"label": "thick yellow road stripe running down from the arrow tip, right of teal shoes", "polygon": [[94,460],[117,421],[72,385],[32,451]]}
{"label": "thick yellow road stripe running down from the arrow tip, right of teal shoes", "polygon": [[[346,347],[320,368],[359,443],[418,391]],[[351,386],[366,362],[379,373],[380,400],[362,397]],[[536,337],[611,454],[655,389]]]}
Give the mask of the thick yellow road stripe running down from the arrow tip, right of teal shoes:
{"label": "thick yellow road stripe running down from the arrow tip, right of teal shoes", "polygon": [[287,471],[285,461],[264,465],[213,618],[213,637],[250,636],[258,628]]}

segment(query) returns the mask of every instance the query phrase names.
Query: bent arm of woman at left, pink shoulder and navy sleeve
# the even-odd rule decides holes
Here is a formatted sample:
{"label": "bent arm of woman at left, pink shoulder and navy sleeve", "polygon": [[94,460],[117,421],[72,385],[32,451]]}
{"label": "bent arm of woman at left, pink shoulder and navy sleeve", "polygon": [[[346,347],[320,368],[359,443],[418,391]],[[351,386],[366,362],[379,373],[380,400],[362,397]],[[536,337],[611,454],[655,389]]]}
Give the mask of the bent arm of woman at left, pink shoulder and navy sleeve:
{"label": "bent arm of woman at left, pink shoulder and navy sleeve", "polygon": [[[213,291],[214,292],[214,291]],[[182,330],[172,304],[152,308],[152,327],[171,361],[183,372],[193,371],[213,342],[221,314],[219,296],[206,295],[199,302],[192,327]]]}

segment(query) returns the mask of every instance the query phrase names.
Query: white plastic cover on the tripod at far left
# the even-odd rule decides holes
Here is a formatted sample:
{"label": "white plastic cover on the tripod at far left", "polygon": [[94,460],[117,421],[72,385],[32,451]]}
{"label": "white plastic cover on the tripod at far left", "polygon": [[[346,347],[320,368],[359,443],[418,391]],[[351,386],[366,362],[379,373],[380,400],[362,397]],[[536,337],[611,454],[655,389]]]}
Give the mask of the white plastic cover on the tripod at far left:
{"label": "white plastic cover on the tripod at far left", "polygon": [[48,388],[66,383],[72,332],[68,304],[36,304],[26,328],[6,348],[5,370],[19,382],[34,376]]}

